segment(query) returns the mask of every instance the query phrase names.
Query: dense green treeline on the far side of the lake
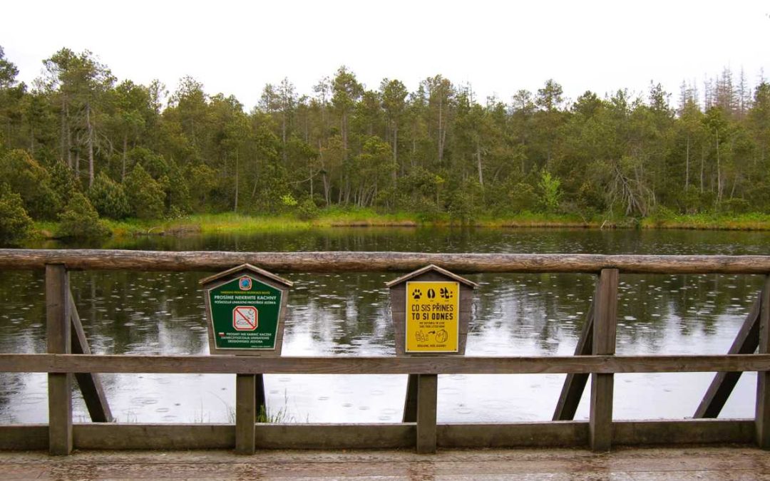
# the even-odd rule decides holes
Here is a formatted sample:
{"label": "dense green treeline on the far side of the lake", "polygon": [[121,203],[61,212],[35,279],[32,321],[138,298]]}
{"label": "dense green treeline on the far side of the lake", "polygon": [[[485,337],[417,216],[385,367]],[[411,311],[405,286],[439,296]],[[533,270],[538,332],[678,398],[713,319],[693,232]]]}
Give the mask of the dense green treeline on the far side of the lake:
{"label": "dense green treeline on the far side of the lake", "polygon": [[266,85],[246,112],[193,78],[170,95],[119,82],[90,52],[43,65],[25,85],[0,48],[0,216],[770,210],[770,85],[729,69],[702,92],[683,84],[673,106],[654,84],[567,101],[548,80],[480,102],[441,75],[415,92],[388,78],[367,89],[340,67],[310,95]]}

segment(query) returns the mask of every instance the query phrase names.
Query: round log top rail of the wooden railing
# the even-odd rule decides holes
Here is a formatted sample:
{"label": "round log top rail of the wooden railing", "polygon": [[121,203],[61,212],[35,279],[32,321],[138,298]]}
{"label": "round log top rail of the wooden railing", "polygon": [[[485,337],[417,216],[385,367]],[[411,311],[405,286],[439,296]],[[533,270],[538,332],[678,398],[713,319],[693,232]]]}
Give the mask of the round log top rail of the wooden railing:
{"label": "round log top rail of the wooden railing", "polygon": [[404,272],[436,264],[454,272],[766,274],[770,256],[604,256],[426,252],[163,252],[99,249],[0,249],[0,269],[213,272],[249,263],[274,272]]}

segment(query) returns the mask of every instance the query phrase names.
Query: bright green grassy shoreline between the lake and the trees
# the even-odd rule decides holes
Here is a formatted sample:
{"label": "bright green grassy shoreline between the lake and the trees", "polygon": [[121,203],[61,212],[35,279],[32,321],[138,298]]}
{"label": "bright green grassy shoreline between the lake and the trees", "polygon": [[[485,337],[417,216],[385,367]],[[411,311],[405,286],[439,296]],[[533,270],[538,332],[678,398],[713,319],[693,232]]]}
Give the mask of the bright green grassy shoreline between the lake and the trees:
{"label": "bright green grassy shoreline between the lake and the trees", "polygon": [[[322,212],[313,220],[293,215],[255,216],[223,212],[188,215],[179,219],[122,221],[106,220],[116,237],[136,235],[189,235],[211,233],[285,232],[334,227],[451,227],[473,226],[482,229],[698,229],[770,231],[770,214],[742,215],[670,215],[644,219],[584,219],[569,214],[524,212],[506,218],[481,218],[474,222],[452,222],[448,218],[421,219],[419,215],[378,214],[370,209]],[[52,238],[56,222],[35,222],[39,237]]]}

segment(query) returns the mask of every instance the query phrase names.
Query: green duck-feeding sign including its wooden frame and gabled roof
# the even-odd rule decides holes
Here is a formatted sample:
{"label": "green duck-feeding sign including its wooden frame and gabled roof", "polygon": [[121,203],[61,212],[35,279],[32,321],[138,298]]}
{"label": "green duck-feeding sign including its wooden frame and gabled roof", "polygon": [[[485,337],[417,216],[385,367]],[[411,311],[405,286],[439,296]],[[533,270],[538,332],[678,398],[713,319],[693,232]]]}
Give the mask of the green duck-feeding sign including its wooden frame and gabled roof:
{"label": "green duck-feeding sign including its wooden frame and gabled roof", "polygon": [[212,354],[280,356],[291,281],[243,264],[200,283]]}

